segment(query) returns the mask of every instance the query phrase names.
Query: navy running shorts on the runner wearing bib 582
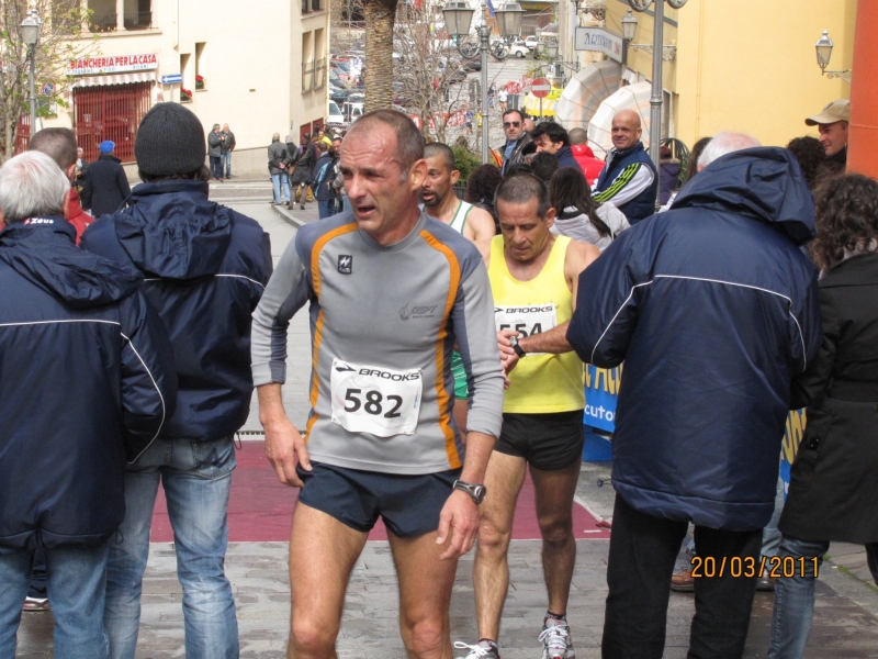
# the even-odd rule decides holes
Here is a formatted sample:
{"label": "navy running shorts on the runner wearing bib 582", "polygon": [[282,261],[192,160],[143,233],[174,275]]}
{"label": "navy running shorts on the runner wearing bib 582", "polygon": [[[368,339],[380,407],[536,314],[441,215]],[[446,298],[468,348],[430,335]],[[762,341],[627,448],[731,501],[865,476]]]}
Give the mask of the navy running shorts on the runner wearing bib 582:
{"label": "navy running shorts on the runner wearing bib 582", "polygon": [[402,476],[325,462],[311,465],[312,471],[296,467],[305,483],[299,501],[361,533],[372,530],[381,516],[387,530],[399,538],[414,538],[439,528],[439,513],[461,471]]}

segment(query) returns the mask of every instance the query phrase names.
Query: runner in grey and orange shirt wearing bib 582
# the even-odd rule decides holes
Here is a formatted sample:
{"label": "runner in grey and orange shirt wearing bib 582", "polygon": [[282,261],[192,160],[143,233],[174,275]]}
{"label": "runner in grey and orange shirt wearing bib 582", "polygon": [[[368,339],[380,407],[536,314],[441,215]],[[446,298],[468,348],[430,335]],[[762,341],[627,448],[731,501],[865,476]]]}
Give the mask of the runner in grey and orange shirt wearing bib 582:
{"label": "runner in grey and orange shirt wearing bib 582", "polygon": [[[254,314],[268,456],[282,482],[302,488],[288,654],[335,656],[348,577],[381,516],[408,655],[450,657],[457,559],[475,539],[502,422],[491,287],[475,246],[418,209],[427,164],[408,118],[379,110],[360,119],[339,170],[351,210],[299,231]],[[303,437],[281,384],[286,327],[305,304],[313,366]],[[472,392],[465,457],[452,415],[455,343]]]}

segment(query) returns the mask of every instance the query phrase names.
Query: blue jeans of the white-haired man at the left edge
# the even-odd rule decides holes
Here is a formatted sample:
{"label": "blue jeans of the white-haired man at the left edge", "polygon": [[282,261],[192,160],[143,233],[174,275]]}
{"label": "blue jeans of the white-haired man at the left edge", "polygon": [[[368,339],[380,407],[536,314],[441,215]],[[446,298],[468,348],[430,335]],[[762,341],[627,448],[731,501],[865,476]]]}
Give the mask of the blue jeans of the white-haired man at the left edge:
{"label": "blue jeans of the white-haired man at the left edge", "polygon": [[[55,615],[55,656],[104,659],[106,555],[110,543],[46,549],[48,599]],[[15,657],[15,633],[31,583],[33,549],[0,554],[0,659]]]}

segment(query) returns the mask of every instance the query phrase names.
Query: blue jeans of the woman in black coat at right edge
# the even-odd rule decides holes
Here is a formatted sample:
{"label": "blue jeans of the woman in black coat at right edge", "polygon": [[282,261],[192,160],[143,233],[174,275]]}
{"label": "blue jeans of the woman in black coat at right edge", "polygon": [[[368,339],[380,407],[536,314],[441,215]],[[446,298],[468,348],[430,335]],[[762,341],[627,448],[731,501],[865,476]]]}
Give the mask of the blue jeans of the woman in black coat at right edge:
{"label": "blue jeans of the woman in black coat at right edge", "polygon": [[[808,636],[811,633],[811,617],[814,613],[814,561],[823,563],[823,555],[830,548],[829,540],[800,540],[784,535],[778,556],[793,558],[789,568],[793,576],[781,577],[775,585],[775,610],[772,618],[772,645],[768,659],[799,659],[804,654]],[[878,543],[866,545],[869,570],[878,584]],[[799,558],[804,557],[804,573]],[[781,563],[783,567],[783,563]],[[789,572],[789,568],[787,571]]]}

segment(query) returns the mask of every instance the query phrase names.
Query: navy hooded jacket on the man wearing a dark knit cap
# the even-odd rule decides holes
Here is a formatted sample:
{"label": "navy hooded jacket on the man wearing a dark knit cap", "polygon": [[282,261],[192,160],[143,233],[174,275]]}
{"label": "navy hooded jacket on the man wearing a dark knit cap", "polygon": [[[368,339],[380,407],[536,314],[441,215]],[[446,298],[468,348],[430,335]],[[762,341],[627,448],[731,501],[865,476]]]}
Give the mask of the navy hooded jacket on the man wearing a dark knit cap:
{"label": "navy hooded jacket on the man wearing a dark knit cap", "polygon": [[204,181],[142,183],[131,206],[92,224],[81,246],[131,264],[173,344],[180,382],[167,438],[211,440],[247,421],[250,314],[272,270],[269,236],[207,200]]}

